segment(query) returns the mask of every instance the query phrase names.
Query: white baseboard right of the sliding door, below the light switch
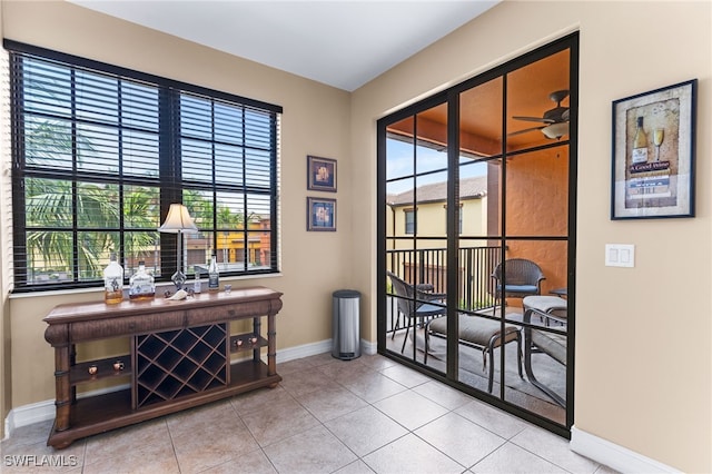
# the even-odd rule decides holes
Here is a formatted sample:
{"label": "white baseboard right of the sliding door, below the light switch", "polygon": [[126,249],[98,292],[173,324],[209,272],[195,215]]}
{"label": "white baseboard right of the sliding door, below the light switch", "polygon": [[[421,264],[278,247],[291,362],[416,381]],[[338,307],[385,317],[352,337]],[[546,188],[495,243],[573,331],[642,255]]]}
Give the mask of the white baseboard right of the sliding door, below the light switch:
{"label": "white baseboard right of the sliding door, below the light switch", "polygon": [[572,426],[571,451],[622,473],[680,473],[680,471],[645,457],[610,441]]}

